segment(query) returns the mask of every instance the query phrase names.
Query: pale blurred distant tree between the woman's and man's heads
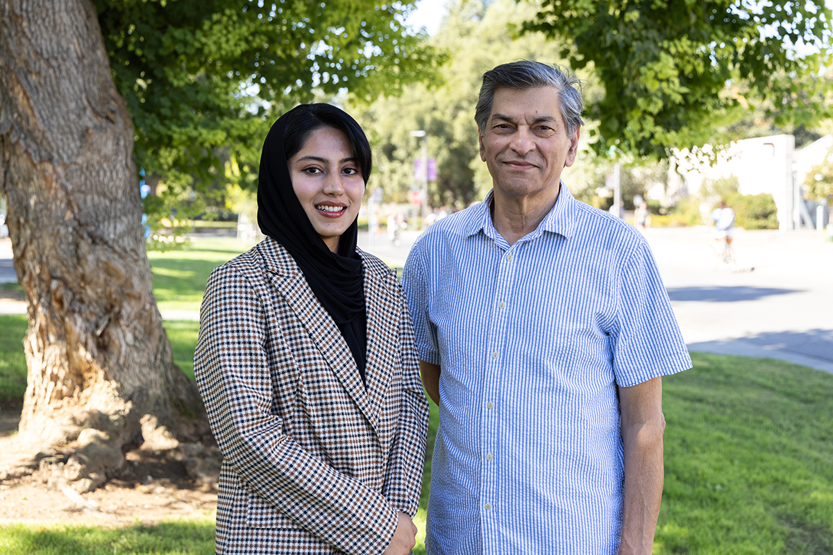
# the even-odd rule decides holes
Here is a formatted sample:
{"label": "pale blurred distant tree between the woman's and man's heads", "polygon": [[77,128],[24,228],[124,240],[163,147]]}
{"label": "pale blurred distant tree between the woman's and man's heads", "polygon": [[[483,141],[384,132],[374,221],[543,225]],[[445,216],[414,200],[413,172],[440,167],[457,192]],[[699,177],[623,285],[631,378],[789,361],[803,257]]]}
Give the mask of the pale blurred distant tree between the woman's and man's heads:
{"label": "pale blurred distant tree between the woman's and man's heads", "polygon": [[[536,7],[512,0],[457,0],[429,44],[446,55],[446,63],[427,83],[403,87],[367,106],[356,105],[371,133],[377,169],[371,186],[381,186],[385,199],[404,202],[413,178],[420,143],[410,131],[425,130],[429,156],[437,161],[437,180],[430,187],[431,206],[463,208],[491,189],[491,176],[477,146],[474,108],[483,73],[504,62],[536,59],[563,63],[560,47],[540,33],[514,37],[512,29],[531,17]],[[589,86],[594,95],[598,87]]]}

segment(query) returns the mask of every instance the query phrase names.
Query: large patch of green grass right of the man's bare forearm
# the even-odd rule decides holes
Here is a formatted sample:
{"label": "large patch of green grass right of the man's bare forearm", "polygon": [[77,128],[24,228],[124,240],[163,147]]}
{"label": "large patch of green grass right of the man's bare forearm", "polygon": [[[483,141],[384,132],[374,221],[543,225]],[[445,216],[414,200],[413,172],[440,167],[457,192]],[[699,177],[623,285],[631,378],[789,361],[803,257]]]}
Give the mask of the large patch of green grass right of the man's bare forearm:
{"label": "large patch of green grass right of the man's bare forearm", "polygon": [[664,380],[654,553],[833,553],[833,375],[692,354]]}

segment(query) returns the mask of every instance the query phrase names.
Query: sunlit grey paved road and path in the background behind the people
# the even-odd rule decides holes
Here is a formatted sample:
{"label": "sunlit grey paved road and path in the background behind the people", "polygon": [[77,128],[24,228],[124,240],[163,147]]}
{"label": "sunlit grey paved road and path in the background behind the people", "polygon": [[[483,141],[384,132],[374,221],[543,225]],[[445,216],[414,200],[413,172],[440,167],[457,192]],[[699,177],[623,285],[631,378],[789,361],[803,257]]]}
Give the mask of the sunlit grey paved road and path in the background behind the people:
{"label": "sunlit grey paved road and path in the background behind the people", "polygon": [[[359,245],[402,266],[416,231],[392,245],[387,235],[359,234]],[[710,230],[651,228],[654,251],[671,306],[691,350],[785,359],[833,372],[833,243],[813,231],[739,230],[735,250],[741,267],[716,268]],[[0,240],[0,282],[16,280],[7,240]],[[0,314],[22,312],[3,305]],[[196,319],[196,313],[164,313]]]}

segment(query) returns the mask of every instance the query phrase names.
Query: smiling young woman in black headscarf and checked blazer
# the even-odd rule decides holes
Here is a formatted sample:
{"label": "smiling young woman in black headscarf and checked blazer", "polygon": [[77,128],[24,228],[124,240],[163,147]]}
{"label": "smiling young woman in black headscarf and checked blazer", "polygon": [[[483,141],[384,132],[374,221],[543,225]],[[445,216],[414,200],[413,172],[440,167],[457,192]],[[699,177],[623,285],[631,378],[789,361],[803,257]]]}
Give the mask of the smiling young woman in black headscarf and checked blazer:
{"label": "smiling young woman in black headscarf and checked blazer", "polygon": [[223,453],[217,553],[410,553],[428,406],[395,273],[357,249],[371,150],[298,106],[263,144],[267,238],[214,270],[194,359]]}

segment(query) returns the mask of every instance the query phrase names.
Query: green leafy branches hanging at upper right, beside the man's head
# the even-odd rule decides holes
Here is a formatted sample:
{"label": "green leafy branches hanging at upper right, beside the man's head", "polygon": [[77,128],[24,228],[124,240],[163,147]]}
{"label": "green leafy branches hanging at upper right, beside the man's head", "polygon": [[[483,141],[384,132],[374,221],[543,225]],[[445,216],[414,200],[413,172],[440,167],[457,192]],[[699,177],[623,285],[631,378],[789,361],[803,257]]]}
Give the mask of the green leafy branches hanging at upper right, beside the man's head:
{"label": "green leafy branches hanging at upper right, beside the man's head", "polygon": [[572,67],[595,68],[599,153],[702,146],[755,102],[780,126],[831,113],[824,0],[543,0],[522,30],[563,41]]}

